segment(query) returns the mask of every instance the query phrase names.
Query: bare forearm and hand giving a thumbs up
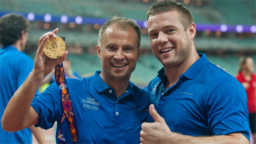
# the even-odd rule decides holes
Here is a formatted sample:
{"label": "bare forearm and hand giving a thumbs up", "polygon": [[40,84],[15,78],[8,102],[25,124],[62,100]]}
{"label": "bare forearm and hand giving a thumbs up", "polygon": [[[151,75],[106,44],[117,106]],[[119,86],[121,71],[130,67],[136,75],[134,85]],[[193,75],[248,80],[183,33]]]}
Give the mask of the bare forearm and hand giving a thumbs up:
{"label": "bare forearm and hand giving a thumbs up", "polygon": [[149,112],[155,122],[142,124],[140,141],[142,143],[248,143],[249,140],[242,133],[231,133],[220,136],[193,137],[171,132],[165,120],[157,113],[154,105],[150,105]]}

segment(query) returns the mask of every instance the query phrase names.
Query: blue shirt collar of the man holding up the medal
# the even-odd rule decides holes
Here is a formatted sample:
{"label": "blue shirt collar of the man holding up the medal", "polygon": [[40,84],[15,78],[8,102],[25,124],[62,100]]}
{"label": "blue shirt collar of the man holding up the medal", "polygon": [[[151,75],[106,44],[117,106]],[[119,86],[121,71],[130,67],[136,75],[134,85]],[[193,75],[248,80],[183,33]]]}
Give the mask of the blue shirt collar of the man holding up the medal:
{"label": "blue shirt collar of the man holding up the medal", "polygon": [[[101,71],[96,71],[94,75],[90,77],[91,83],[93,84],[94,88],[98,92],[103,92],[107,89],[112,89],[108,86],[108,84],[104,82],[104,80],[102,80],[99,74],[101,74]],[[131,81],[129,81],[129,87],[128,87],[128,90],[126,91],[127,94],[135,95],[133,91],[133,86],[134,84]]]}

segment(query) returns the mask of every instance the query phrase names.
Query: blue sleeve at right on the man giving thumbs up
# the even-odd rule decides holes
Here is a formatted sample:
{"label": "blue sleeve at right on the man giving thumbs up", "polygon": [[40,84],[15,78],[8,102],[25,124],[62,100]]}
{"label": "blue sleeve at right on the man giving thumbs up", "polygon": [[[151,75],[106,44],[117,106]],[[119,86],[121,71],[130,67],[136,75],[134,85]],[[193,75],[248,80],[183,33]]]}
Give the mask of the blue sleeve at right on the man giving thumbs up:
{"label": "blue sleeve at right on the man giving thumbs up", "polygon": [[208,126],[213,135],[226,135],[240,132],[248,139],[247,97],[244,87],[237,80],[220,80],[206,96],[205,107]]}

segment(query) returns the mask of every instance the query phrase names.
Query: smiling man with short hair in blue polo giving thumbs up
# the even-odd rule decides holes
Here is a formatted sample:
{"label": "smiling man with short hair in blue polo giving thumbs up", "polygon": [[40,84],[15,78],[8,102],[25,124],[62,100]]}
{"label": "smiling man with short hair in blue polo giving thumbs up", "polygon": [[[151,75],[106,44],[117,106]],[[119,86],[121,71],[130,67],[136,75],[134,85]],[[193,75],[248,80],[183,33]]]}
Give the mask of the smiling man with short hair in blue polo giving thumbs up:
{"label": "smiling man with short hair in blue polo giving thumbs up", "polygon": [[[238,80],[198,54],[191,12],[176,1],[147,13],[151,48],[163,68],[151,93],[142,143],[249,143],[247,98]],[[154,109],[155,107],[155,109]]]}

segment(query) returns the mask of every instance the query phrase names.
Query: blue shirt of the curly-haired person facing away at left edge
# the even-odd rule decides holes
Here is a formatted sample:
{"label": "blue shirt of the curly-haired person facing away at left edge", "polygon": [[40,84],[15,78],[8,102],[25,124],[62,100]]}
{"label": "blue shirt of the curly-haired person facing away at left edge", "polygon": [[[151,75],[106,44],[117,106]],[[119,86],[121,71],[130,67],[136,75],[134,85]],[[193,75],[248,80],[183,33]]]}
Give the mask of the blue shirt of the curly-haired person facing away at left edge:
{"label": "blue shirt of the curly-haired person facing away at left edge", "polygon": [[[15,91],[26,80],[34,66],[33,60],[13,46],[4,46],[0,50],[0,107],[1,118],[5,107]],[[38,92],[37,92],[38,93]],[[1,124],[0,124],[1,125]],[[0,130],[0,143],[32,143],[29,128],[18,132]]]}

